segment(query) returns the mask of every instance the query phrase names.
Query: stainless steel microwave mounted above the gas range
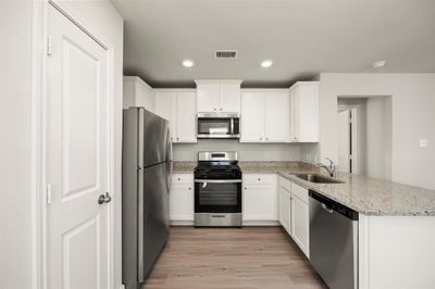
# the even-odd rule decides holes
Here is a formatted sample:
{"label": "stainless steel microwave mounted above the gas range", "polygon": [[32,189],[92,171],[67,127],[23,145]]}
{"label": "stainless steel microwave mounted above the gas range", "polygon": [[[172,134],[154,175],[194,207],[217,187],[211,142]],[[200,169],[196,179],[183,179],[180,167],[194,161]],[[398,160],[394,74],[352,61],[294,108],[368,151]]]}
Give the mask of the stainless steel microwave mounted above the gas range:
{"label": "stainless steel microwave mounted above the gas range", "polygon": [[235,113],[198,113],[198,138],[239,138],[240,121]]}

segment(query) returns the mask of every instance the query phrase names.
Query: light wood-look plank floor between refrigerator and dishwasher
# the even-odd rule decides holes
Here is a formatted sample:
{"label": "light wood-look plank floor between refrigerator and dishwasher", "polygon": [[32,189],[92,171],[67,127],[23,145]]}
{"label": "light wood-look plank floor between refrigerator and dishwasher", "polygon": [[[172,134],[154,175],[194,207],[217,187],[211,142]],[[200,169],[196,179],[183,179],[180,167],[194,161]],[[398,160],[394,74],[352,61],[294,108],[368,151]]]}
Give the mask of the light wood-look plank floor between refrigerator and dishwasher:
{"label": "light wood-look plank floor between refrigerator and dishwasher", "polygon": [[327,288],[279,227],[172,227],[144,289]]}

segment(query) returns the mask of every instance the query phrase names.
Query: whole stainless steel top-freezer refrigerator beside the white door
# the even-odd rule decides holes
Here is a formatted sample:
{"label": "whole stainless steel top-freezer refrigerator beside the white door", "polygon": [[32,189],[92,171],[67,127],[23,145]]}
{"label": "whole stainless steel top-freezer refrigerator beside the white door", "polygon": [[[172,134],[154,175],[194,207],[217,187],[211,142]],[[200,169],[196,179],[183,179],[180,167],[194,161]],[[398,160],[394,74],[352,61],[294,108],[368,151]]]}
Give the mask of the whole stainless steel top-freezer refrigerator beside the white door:
{"label": "whole stainless steel top-freezer refrigerator beside the white door", "polygon": [[123,284],[126,289],[137,289],[169,236],[169,122],[144,108],[124,110],[122,163]]}

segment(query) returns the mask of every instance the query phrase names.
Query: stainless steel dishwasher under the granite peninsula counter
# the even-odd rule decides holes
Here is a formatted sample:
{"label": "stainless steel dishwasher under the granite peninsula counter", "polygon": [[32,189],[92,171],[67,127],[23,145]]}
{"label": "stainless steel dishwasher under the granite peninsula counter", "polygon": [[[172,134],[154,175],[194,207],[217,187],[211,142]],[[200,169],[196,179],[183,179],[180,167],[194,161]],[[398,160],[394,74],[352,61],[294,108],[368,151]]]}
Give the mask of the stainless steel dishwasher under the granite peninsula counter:
{"label": "stainless steel dishwasher under the granite peninsula counter", "polygon": [[310,262],[331,289],[358,288],[358,212],[310,190]]}

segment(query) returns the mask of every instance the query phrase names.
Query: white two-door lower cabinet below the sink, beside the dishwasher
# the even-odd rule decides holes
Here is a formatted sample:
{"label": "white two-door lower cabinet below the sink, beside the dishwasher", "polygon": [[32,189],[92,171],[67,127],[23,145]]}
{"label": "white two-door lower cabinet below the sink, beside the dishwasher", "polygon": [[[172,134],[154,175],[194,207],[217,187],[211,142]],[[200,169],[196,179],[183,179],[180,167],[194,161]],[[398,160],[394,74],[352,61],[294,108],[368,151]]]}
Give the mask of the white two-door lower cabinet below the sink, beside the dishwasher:
{"label": "white two-door lower cabinet below the sink, beside the dishwasher", "polygon": [[279,223],[310,257],[308,190],[279,177]]}

